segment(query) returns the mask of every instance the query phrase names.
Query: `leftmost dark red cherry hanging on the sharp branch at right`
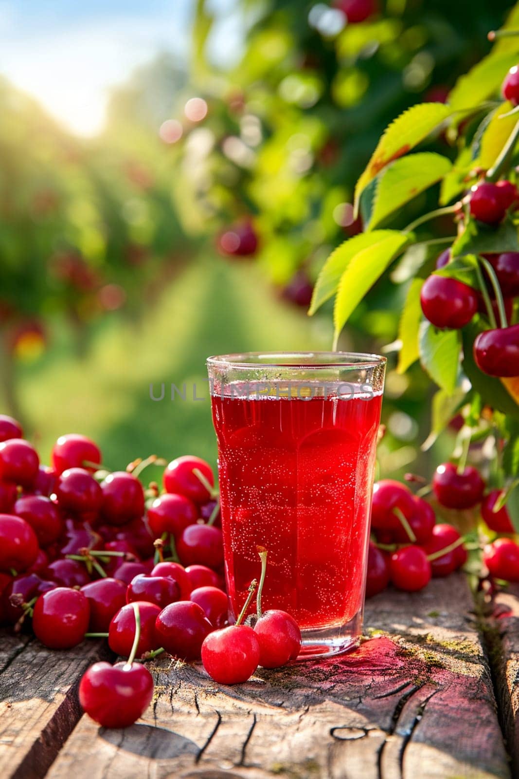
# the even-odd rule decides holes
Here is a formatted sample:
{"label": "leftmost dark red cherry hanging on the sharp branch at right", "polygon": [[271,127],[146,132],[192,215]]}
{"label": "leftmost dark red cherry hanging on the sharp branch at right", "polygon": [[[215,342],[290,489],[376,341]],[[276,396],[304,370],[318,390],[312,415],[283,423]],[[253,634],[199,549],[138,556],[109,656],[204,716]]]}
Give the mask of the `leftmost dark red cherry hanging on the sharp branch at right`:
{"label": "leftmost dark red cherry hanging on the sharp branch at right", "polygon": [[430,276],[420,292],[423,315],[435,327],[458,330],[478,310],[478,296],[472,287],[457,279]]}

